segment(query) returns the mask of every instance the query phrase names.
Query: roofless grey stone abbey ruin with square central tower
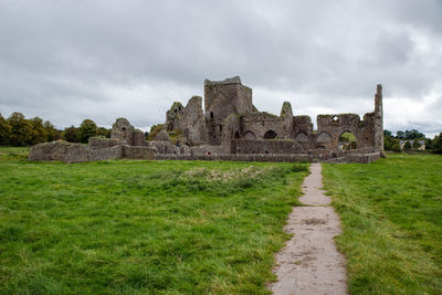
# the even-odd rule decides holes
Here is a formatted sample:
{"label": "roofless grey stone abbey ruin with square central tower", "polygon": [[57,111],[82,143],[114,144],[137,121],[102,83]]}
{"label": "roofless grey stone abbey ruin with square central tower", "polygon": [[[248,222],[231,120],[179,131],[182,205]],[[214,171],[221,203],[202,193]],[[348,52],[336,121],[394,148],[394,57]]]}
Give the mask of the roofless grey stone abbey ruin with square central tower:
{"label": "roofless grey stone abbey ruin with square central tower", "polygon": [[[240,77],[204,81],[202,97],[183,106],[176,102],[154,140],[147,141],[125,118],[113,125],[110,139],[93,137],[90,144],[53,141],[33,146],[31,160],[82,162],[104,159],[185,159],[245,161],[371,162],[383,156],[382,86],[375,94],[375,110],[364,115],[294,116],[284,102],[280,116],[259,112],[252,89]],[[339,140],[351,133],[355,149]],[[169,135],[175,135],[171,138]],[[173,139],[173,140],[172,140]]]}

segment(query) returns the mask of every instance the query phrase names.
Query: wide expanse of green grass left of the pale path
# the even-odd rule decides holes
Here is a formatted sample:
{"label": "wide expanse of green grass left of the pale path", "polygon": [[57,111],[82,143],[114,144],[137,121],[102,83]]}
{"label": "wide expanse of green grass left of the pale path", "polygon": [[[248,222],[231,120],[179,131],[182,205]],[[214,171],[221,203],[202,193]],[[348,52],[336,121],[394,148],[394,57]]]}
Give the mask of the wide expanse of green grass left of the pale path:
{"label": "wide expanse of green grass left of the pale path", "polygon": [[1,294],[266,294],[307,165],[0,148]]}

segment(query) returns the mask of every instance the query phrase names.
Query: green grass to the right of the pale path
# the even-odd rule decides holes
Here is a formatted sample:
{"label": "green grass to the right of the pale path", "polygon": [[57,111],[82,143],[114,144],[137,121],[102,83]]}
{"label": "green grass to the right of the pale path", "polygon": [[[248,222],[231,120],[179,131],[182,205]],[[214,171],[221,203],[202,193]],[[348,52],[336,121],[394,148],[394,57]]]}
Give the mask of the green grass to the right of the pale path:
{"label": "green grass to the right of the pale path", "polygon": [[351,294],[442,294],[442,156],[324,165]]}

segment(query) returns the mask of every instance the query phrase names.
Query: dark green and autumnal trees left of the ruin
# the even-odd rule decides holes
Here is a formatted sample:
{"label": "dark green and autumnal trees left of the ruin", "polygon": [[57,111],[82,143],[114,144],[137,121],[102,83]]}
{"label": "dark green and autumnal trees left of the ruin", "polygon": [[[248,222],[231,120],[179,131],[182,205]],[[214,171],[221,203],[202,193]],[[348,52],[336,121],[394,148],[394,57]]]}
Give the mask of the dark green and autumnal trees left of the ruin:
{"label": "dark green and autumnal trees left of the ruin", "polygon": [[86,144],[93,136],[108,138],[110,129],[98,127],[92,119],[85,119],[78,127],[71,126],[60,130],[51,122],[40,117],[27,119],[23,114],[15,112],[4,118],[0,114],[1,146],[23,147],[59,139]]}

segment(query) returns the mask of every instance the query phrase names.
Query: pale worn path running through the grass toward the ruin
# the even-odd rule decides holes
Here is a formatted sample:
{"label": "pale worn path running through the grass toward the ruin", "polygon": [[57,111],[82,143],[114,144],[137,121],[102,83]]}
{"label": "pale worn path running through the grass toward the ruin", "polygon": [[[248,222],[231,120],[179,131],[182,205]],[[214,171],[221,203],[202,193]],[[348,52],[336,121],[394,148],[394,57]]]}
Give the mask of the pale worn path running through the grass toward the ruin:
{"label": "pale worn path running through the grass toward the ruin", "polygon": [[340,233],[339,217],[320,190],[320,164],[313,164],[311,171],[299,198],[309,207],[294,207],[284,228],[293,238],[276,255],[278,282],[270,286],[274,294],[347,294],[345,259],[333,240]]}

